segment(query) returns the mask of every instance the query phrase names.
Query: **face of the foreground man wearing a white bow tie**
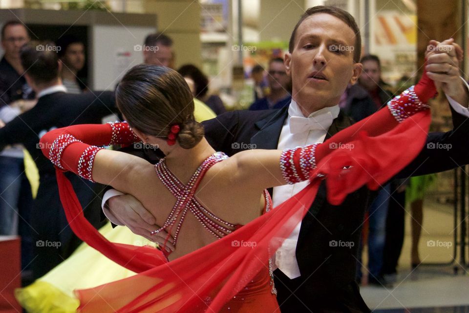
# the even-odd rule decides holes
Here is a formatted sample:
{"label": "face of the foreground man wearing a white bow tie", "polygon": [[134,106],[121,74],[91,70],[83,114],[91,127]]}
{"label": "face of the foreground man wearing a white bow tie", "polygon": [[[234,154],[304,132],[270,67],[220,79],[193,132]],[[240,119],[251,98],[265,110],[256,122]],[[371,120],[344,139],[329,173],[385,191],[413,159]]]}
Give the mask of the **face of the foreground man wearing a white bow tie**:
{"label": "face of the foreground man wearing a white bow tie", "polygon": [[355,34],[340,19],[318,13],[305,19],[296,31],[292,53],[285,55],[292,77],[293,97],[300,105],[322,107],[339,103],[349,83],[357,81],[361,64],[353,62]]}

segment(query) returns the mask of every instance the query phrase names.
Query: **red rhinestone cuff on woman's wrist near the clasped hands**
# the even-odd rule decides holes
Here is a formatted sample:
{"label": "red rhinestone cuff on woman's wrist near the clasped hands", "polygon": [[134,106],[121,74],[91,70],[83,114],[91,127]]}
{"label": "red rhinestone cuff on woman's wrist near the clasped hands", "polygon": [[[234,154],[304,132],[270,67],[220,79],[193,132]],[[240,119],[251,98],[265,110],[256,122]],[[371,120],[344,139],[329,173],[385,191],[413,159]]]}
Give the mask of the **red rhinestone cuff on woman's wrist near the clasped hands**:
{"label": "red rhinestone cuff on woman's wrist near the clasped hands", "polygon": [[389,100],[387,107],[399,123],[419,111],[430,109],[429,105],[420,101],[414,91],[414,86],[404,90],[401,95]]}

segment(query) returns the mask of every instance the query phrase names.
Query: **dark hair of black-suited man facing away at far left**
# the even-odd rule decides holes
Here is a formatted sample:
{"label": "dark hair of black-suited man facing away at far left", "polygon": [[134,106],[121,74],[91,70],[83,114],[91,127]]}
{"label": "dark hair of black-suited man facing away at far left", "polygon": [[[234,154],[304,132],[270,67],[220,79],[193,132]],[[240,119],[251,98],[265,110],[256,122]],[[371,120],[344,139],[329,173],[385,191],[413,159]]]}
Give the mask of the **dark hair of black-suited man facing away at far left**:
{"label": "dark hair of black-suited man facing away at far left", "polygon": [[20,50],[21,65],[36,84],[46,84],[59,77],[59,58],[53,42],[31,41]]}

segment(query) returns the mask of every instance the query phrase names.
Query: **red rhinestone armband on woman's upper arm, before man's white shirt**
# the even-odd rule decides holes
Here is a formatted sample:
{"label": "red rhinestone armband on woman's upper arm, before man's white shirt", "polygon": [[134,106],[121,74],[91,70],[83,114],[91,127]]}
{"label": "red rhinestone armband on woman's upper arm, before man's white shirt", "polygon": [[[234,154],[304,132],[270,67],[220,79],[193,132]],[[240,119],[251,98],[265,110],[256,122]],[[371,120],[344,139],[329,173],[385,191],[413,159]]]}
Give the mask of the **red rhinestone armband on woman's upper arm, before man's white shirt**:
{"label": "red rhinestone armband on woman's upper arm, before man's white shirt", "polygon": [[310,173],[316,168],[316,151],[317,143],[304,147],[296,147],[295,149],[285,149],[280,156],[280,170],[283,179],[288,184],[309,179]]}

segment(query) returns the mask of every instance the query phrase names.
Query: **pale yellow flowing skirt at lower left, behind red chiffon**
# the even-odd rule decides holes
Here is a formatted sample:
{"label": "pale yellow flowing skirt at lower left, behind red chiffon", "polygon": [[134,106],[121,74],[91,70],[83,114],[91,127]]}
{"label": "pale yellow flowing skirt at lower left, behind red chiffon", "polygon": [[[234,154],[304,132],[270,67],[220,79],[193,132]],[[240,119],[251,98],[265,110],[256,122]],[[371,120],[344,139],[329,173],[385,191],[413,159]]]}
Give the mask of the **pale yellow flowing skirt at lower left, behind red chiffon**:
{"label": "pale yellow flowing skirt at lower left, behind red chiffon", "polygon": [[[107,223],[99,231],[111,242],[156,248],[156,244],[124,226],[112,228]],[[83,243],[64,262],[33,284],[17,289],[15,296],[29,313],[72,313],[79,306],[73,293],[75,289],[96,287],[134,274]]]}

